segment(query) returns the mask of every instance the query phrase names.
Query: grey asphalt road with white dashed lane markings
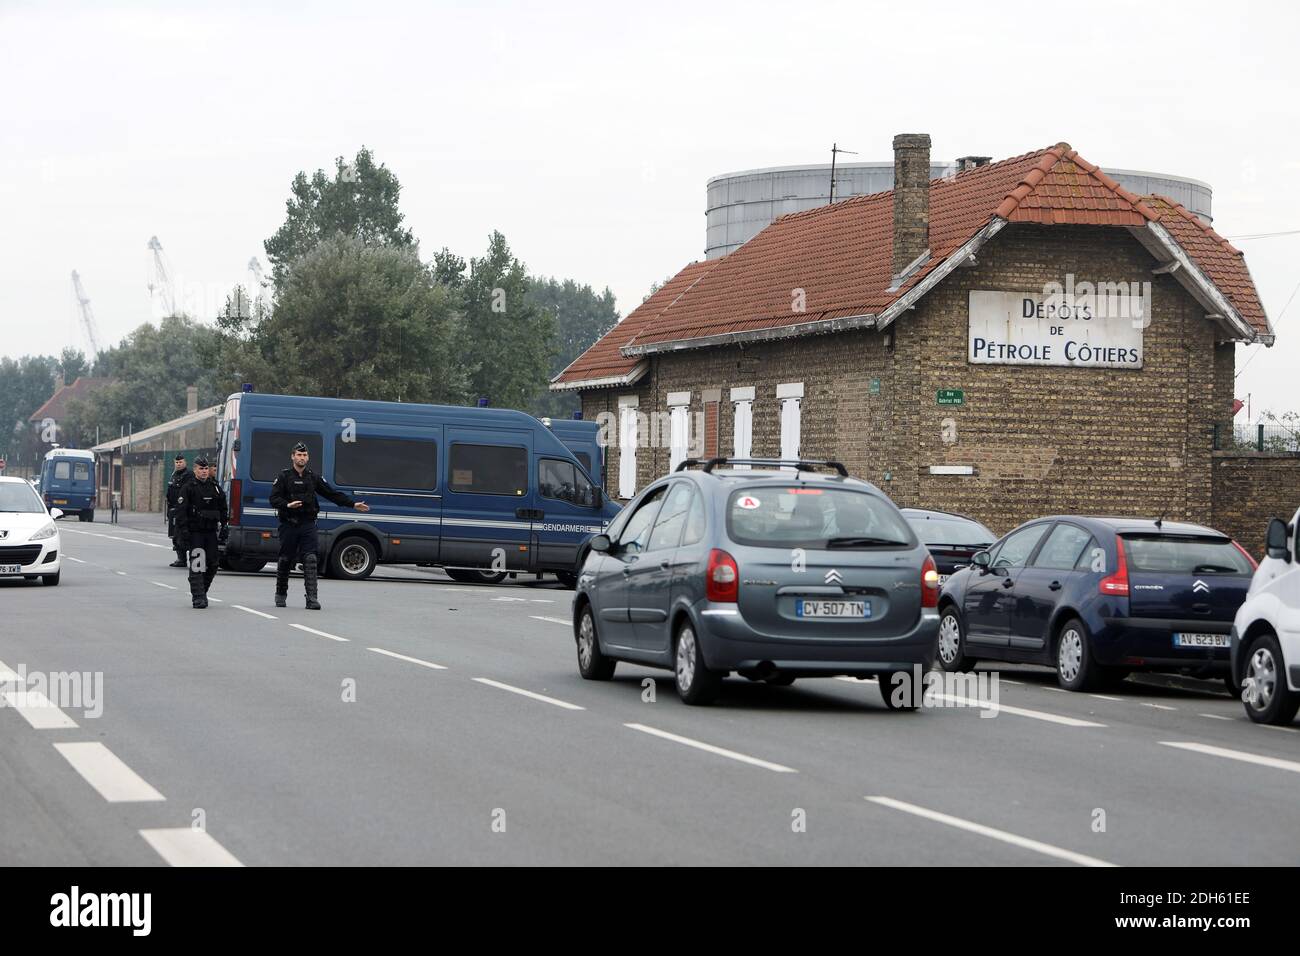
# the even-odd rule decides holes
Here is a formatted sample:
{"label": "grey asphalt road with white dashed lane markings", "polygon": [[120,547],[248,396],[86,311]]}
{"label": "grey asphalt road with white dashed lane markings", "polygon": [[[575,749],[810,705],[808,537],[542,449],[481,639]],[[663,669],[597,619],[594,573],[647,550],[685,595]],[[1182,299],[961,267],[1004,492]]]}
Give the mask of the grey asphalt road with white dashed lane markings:
{"label": "grey asphalt road with white dashed lane markings", "polygon": [[101,695],[0,706],[6,864],[1300,864],[1300,726],[1216,684],[1004,667],[982,717],[733,678],[686,708],[664,671],[581,680],[555,584],[381,568],[316,613],[221,574],[196,611],[157,531],[60,529],[60,587],[0,583],[0,662]]}

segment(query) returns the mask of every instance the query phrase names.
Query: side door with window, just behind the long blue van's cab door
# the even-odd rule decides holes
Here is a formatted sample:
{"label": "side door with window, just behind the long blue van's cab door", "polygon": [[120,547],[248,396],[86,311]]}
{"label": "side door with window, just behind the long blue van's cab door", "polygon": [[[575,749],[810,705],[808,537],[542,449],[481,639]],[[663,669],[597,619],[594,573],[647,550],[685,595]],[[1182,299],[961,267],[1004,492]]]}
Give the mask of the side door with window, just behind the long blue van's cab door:
{"label": "side door with window, just behind the long blue van's cab door", "polygon": [[448,425],[446,445],[439,562],[446,567],[532,570],[537,511],[532,433]]}

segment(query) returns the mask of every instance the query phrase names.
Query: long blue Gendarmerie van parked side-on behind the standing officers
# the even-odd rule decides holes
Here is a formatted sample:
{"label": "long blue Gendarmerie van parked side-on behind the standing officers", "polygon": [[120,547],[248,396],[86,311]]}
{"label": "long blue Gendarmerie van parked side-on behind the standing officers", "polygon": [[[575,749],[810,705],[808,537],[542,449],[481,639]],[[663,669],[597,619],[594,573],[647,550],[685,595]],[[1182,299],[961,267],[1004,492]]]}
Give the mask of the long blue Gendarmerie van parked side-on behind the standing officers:
{"label": "long blue Gendarmerie van parked side-on behind the standing officers", "polygon": [[228,567],[256,571],[276,559],[270,485],[299,441],[308,468],[370,506],[359,514],[321,501],[322,566],[338,578],[419,564],[489,583],[550,571],[572,585],[588,540],[619,511],[521,411],[242,392],[226,399],[218,440]]}

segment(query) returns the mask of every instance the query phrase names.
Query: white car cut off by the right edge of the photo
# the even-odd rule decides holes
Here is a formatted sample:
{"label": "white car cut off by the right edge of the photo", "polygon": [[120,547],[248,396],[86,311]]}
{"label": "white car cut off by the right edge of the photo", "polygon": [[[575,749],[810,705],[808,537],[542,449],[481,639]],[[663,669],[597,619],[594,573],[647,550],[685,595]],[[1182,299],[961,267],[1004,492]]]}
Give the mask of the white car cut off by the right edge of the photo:
{"label": "white car cut off by the right edge of the photo", "polygon": [[1269,522],[1268,554],[1232,620],[1232,676],[1245,714],[1287,724],[1300,710],[1300,511]]}

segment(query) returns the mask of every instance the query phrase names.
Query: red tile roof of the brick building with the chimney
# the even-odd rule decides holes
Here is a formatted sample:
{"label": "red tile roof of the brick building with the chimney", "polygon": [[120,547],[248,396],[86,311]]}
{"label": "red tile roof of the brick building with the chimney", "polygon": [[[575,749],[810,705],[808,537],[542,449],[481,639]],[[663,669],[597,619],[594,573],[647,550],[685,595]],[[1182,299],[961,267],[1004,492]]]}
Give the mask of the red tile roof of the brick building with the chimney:
{"label": "red tile roof of the brick building with the chimney", "polygon": [[[930,185],[930,259],[893,286],[893,193],[781,216],[722,259],[693,263],[634,310],[558,384],[625,375],[619,350],[827,319],[879,315],[994,219],[1045,225],[1144,226],[1160,221],[1242,317],[1268,319],[1240,252],[1192,213],[1138,196],[1067,143],[976,166]],[[668,289],[671,295],[663,295]],[[803,311],[796,311],[798,291]]]}

